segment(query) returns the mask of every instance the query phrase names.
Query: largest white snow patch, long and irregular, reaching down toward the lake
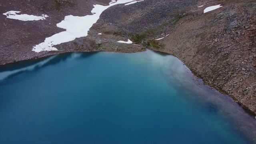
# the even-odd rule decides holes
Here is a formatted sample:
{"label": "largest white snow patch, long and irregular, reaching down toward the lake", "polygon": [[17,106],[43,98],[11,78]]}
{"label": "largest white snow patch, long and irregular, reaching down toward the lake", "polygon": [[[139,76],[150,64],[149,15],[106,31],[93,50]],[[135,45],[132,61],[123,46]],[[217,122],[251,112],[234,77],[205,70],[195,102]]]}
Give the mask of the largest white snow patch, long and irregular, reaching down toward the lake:
{"label": "largest white snow patch, long and irregular, reaching down toward the lake", "polygon": [[91,11],[93,15],[65,16],[64,20],[58,23],[57,26],[59,28],[66,29],[66,31],[54,34],[53,36],[46,38],[44,42],[34,46],[32,51],[41,52],[57,50],[57,48],[53,47],[54,45],[69,42],[76,38],[87,36],[89,29],[92,27],[94,23],[97,22],[97,20],[100,18],[100,14],[104,10],[116,4],[124,4],[132,1],[134,0],[112,0],[112,2],[110,2],[108,6],[102,6],[98,4],[94,5],[94,8]]}

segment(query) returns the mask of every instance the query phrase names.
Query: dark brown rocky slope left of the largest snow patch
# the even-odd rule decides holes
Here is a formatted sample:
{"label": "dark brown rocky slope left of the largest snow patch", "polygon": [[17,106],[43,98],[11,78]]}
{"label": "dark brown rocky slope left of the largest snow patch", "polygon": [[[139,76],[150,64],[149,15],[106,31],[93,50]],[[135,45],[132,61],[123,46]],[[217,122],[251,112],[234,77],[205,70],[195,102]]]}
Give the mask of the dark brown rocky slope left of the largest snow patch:
{"label": "dark brown rocky slope left of the largest snow patch", "polygon": [[[0,1],[0,64],[50,55],[35,53],[31,48],[44,39],[64,31],[56,26],[65,16],[91,14],[93,4],[108,5],[111,0],[1,0]],[[46,20],[20,21],[6,18],[3,13],[20,11],[20,14],[41,16]]]}

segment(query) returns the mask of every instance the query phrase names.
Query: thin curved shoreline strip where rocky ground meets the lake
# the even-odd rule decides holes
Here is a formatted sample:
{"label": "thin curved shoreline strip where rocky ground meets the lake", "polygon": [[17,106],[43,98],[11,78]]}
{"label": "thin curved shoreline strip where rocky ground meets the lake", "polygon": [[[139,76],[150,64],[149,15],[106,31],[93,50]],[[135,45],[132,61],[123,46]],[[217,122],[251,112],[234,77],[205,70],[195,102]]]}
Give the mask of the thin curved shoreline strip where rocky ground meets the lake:
{"label": "thin curved shoreline strip where rocky ground meets the lake", "polygon": [[[177,56],[173,55],[173,54],[170,54],[168,52],[163,52],[163,51],[160,51],[160,50],[153,50],[153,49],[148,49],[146,48],[144,51],[146,50],[152,50],[153,52],[156,52],[156,53],[160,53],[160,54],[165,54],[165,55],[171,55],[171,56],[174,56],[176,58],[178,58]],[[140,51],[140,52],[144,52],[144,51]],[[56,52],[56,53],[55,53]],[[30,59],[24,59],[24,60],[19,60],[19,61],[15,61],[15,62],[8,62],[8,63],[5,63],[5,64],[0,64],[0,68],[2,66],[8,66],[8,65],[12,65],[12,64],[17,64],[17,63],[20,63],[20,62],[24,62],[24,61],[32,61],[32,60],[37,60],[37,59],[40,59],[40,58],[47,58],[47,57],[50,57],[50,56],[54,56],[54,55],[58,55],[58,54],[67,54],[67,53],[73,53],[73,52],[87,52],[87,53],[93,53],[93,52],[115,52],[114,50],[95,50],[95,51],[72,51],[72,50],[68,50],[68,51],[48,51],[47,54],[43,54],[41,56],[37,56],[37,57],[32,57]],[[136,53],[135,51],[130,51],[130,52],[116,52],[116,53]],[[178,58],[179,59],[179,58]],[[180,59],[179,59],[180,60]],[[182,60],[180,60],[183,64],[184,62]],[[185,66],[187,66],[186,64],[184,64]],[[244,111],[249,114],[250,116],[252,116],[253,118],[255,118],[256,116],[256,113],[254,113],[252,110],[250,110],[247,106],[245,106],[244,104],[242,104],[241,102],[239,102],[238,100],[236,100],[236,98],[232,95],[229,95],[227,92],[225,92],[224,90],[222,90],[221,88],[218,88],[218,87],[214,87],[213,84],[210,84],[208,83],[206,80],[204,80],[204,78],[202,76],[200,76],[199,74],[197,74],[197,72],[195,72],[194,70],[192,70],[189,66],[187,66],[189,68],[189,70],[192,72],[192,74],[197,77],[197,78],[200,78],[203,82],[204,82],[204,85],[207,85],[207,86],[210,86],[211,88],[214,88],[216,91],[220,92],[221,94],[224,94],[224,95],[227,95],[229,96],[230,98],[232,98],[239,106],[241,106]]]}

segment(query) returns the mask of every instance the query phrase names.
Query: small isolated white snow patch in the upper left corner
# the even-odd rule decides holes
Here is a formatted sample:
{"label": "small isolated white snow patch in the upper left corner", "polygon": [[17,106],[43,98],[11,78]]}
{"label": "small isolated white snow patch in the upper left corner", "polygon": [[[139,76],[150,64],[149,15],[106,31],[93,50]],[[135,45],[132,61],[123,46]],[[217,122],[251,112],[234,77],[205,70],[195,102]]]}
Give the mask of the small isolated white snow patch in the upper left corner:
{"label": "small isolated white snow patch in the upper left corner", "polygon": [[43,14],[42,16],[34,16],[34,15],[17,14],[17,13],[20,13],[20,11],[9,11],[4,13],[4,15],[6,15],[7,18],[22,20],[22,21],[45,20],[48,17],[46,14]]}

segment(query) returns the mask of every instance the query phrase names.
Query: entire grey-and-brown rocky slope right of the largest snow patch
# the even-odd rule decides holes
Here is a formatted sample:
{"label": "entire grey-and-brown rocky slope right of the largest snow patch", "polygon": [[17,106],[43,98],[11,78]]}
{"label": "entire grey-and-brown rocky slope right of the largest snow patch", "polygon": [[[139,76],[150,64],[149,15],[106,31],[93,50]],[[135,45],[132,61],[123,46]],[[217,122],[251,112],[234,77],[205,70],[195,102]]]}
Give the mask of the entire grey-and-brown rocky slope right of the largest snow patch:
{"label": "entire grey-and-brown rocky slope right of the largest snow patch", "polygon": [[[216,4],[222,7],[203,13]],[[204,82],[233,97],[255,116],[256,2],[148,0],[113,6],[93,30],[106,34],[112,30],[113,35],[177,56]]]}

